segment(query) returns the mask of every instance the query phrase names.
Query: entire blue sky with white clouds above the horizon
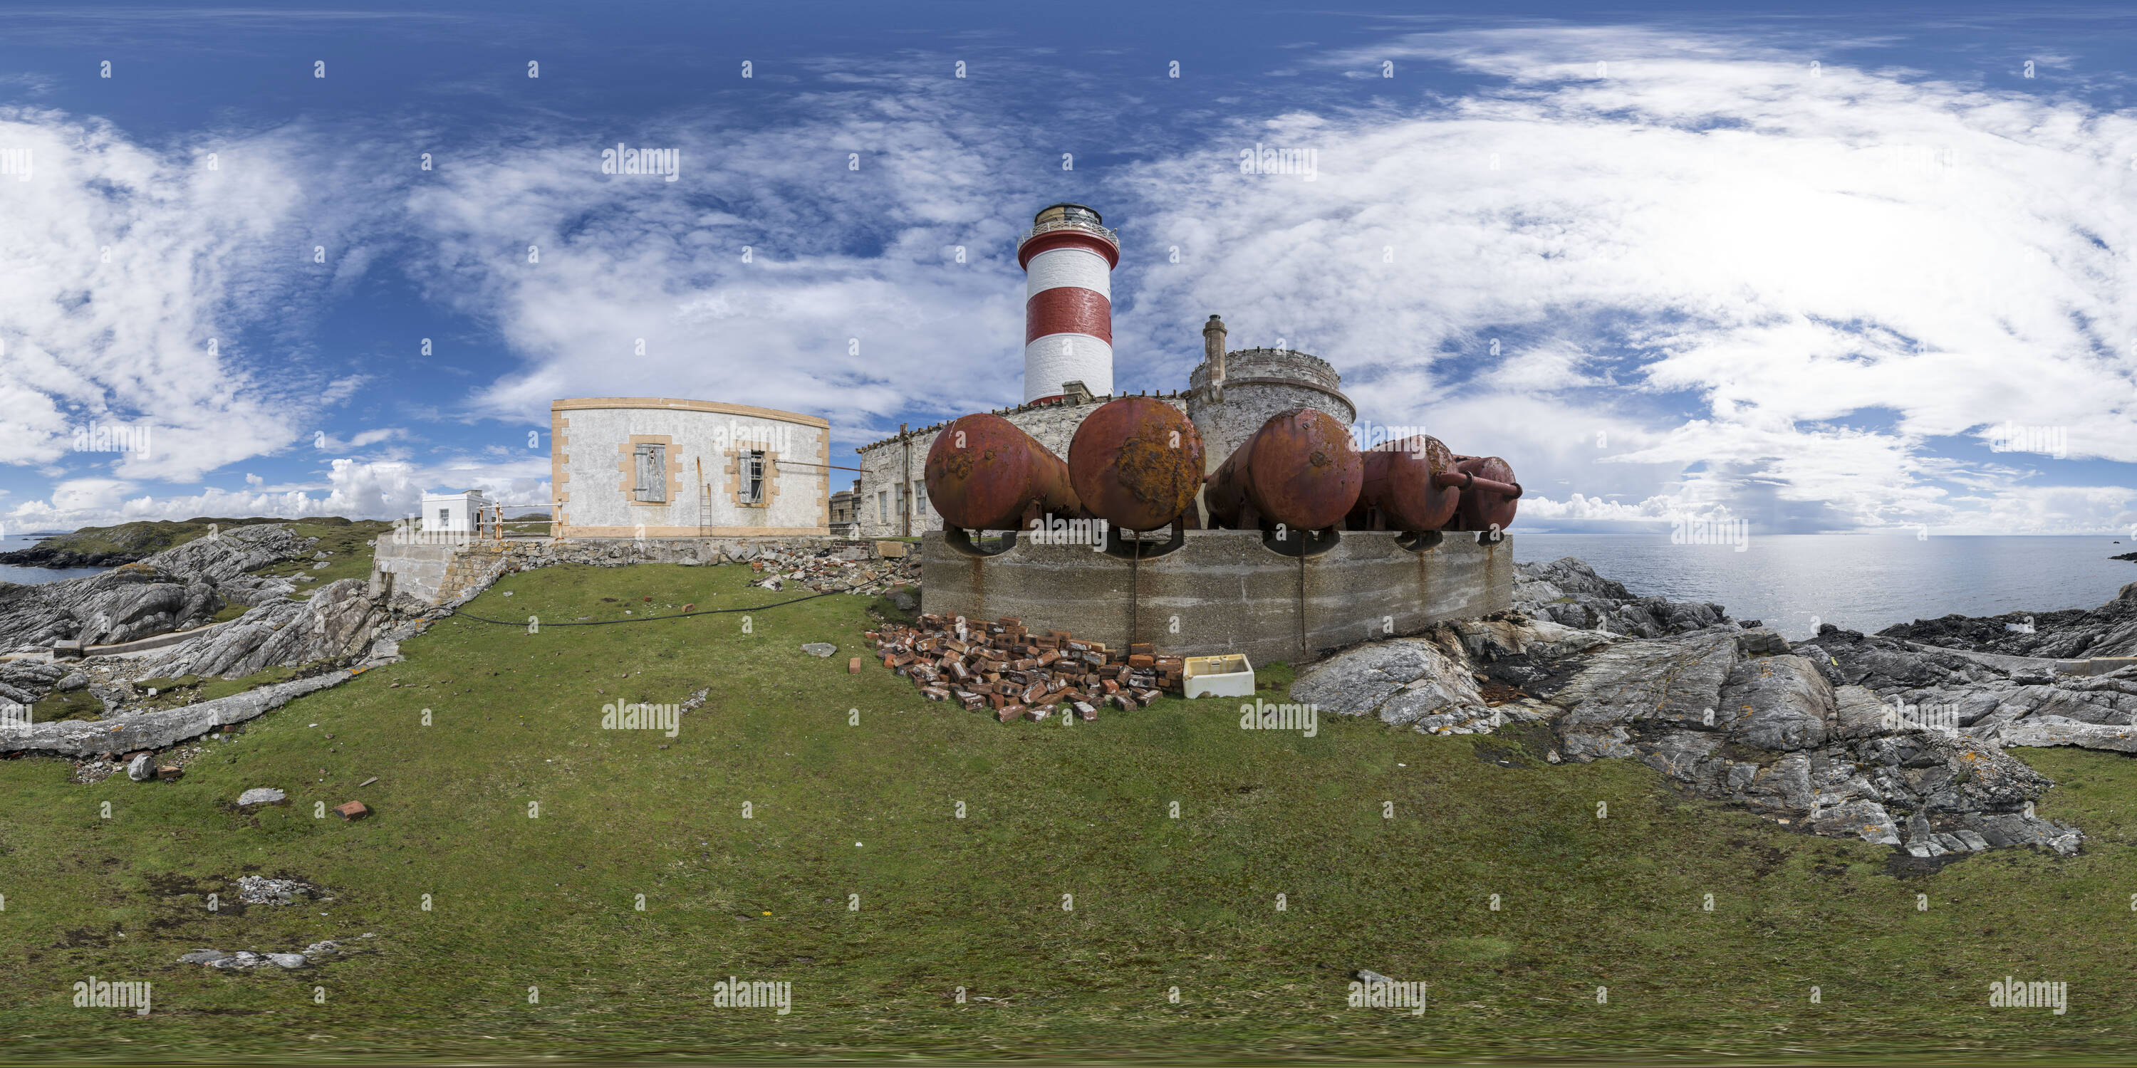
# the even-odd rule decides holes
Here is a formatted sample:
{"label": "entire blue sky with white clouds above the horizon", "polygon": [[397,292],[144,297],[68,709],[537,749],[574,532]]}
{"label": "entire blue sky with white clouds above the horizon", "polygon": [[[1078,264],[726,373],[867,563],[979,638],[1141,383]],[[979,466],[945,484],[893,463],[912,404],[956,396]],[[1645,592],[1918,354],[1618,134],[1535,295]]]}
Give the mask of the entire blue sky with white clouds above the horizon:
{"label": "entire blue sky with white clouds above the horizon", "polygon": [[[577,395],[816,412],[851,457],[1019,397],[1013,241],[1075,199],[1122,235],[1120,387],[1184,384],[1225,314],[1235,346],[1329,359],[1361,417],[1507,457],[1528,530],[2128,534],[2133,30],[15,6],[0,523],[543,502],[547,406]],[[618,143],[680,150],[675,182],[603,175]],[[1254,145],[1316,173],[1242,175]]]}

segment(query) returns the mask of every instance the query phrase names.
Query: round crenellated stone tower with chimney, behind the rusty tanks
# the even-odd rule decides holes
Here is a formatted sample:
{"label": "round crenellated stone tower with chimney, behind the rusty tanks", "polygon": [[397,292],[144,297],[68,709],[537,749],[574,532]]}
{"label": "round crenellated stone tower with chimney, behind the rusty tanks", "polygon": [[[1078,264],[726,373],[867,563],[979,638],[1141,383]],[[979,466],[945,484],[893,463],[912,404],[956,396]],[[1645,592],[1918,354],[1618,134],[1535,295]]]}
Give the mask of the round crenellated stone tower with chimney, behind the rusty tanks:
{"label": "round crenellated stone tower with chimney, behind the rusty tanks", "polygon": [[1357,406],[1342,395],[1342,376],[1321,357],[1291,348],[1225,350],[1225,320],[1203,325],[1203,361],[1188,374],[1188,419],[1203,436],[1203,464],[1216,472],[1239,442],[1276,412],[1314,408],[1342,425]]}

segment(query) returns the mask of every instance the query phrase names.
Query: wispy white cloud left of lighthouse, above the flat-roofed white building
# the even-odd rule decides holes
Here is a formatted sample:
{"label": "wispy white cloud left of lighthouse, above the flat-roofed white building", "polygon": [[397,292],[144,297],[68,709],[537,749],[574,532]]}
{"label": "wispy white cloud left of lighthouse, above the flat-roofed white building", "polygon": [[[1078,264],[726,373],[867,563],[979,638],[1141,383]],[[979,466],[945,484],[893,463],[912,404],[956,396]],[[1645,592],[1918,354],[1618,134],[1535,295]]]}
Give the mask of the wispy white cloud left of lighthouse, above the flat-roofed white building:
{"label": "wispy white cloud left of lighthouse, above the flat-roofed white building", "polygon": [[[836,113],[842,117],[821,117]],[[1000,135],[925,92],[818,98],[816,117],[712,117],[549,139],[417,186],[432,299],[496,323],[524,370],[468,410],[547,421],[571,395],[718,397],[825,414],[1015,397],[1024,288]],[[677,150],[677,182],[605,175],[600,152]]]}

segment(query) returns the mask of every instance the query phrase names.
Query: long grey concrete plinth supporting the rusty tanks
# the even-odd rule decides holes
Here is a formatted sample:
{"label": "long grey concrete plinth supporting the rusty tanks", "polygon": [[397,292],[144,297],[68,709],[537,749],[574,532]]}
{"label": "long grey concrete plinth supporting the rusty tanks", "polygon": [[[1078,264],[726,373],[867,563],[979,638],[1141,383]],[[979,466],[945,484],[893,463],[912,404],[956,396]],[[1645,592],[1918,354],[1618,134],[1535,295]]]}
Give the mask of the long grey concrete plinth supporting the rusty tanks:
{"label": "long grey concrete plinth supporting the rusty tanks", "polygon": [[1477,545],[1477,534],[1447,534],[1410,551],[1398,536],[1344,532],[1327,551],[1295,557],[1267,549],[1259,532],[1190,530],[1180,549],[1133,562],[1030,540],[974,555],[934,532],[921,538],[921,611],[1015,615],[1034,632],[1148,641],[1177,656],[1304,664],[1513,604],[1513,538]]}

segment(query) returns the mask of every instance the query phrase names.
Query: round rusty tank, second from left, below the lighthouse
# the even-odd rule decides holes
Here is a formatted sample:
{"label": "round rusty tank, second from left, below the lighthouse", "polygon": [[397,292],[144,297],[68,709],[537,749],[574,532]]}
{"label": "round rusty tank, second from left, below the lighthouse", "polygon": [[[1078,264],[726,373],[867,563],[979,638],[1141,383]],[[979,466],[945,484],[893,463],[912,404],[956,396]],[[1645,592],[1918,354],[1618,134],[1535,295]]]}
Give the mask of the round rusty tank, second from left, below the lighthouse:
{"label": "round rusty tank, second from left, below the lighthouse", "polygon": [[1101,404],[1068,442],[1068,485],[1077,500],[1122,530],[1160,530],[1180,519],[1201,481],[1201,434],[1154,397]]}

